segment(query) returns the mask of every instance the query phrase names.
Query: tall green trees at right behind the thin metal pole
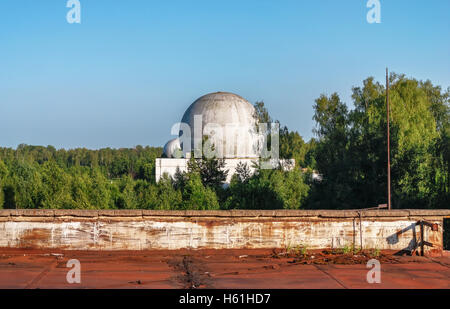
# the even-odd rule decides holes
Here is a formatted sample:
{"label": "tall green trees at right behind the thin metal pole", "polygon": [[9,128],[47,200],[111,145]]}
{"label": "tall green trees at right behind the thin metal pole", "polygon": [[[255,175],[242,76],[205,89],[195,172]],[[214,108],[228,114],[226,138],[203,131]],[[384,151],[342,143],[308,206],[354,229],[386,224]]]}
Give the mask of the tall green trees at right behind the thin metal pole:
{"label": "tall green trees at right behind the thin metal pole", "polygon": [[[447,207],[448,96],[430,82],[403,75],[391,74],[390,84],[393,207]],[[311,207],[386,203],[385,88],[368,78],[353,88],[352,98],[350,112],[337,95],[316,100],[313,153],[324,181],[313,186]]]}

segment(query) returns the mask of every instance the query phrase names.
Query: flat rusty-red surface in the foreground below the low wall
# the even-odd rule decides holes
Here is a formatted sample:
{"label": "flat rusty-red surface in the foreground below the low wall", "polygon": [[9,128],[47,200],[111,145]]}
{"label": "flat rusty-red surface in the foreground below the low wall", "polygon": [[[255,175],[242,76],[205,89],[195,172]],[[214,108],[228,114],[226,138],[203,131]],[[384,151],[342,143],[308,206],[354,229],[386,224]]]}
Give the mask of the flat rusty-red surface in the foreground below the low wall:
{"label": "flat rusty-red surface in the foreground below the low wall", "polygon": [[[69,259],[80,261],[80,284],[66,281]],[[396,257],[369,284],[365,264],[303,265],[269,250],[0,249],[0,288],[449,289],[449,265],[449,257]]]}

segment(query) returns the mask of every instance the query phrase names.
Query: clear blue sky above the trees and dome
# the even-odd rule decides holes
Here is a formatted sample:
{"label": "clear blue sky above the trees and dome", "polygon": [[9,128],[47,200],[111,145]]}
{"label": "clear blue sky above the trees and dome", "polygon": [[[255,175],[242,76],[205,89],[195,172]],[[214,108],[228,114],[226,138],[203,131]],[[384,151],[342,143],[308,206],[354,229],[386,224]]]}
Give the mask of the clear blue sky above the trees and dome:
{"label": "clear blue sky above the trees and dome", "polygon": [[450,86],[450,1],[0,1],[0,145],[163,146],[196,98],[264,100],[313,136],[314,99],[391,71]]}

